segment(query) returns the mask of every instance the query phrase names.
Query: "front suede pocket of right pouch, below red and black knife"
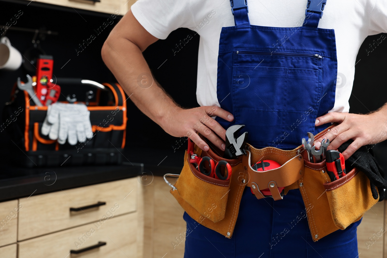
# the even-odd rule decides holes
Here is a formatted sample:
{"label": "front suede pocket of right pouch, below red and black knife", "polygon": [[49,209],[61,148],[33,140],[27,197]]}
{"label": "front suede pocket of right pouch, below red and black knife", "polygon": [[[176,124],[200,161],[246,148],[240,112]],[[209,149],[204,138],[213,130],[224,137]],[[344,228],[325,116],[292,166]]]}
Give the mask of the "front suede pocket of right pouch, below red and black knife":
{"label": "front suede pocket of right pouch, below red and black knife", "polygon": [[334,224],[345,229],[359,220],[378,200],[372,197],[370,180],[357,168],[330,183],[325,183]]}

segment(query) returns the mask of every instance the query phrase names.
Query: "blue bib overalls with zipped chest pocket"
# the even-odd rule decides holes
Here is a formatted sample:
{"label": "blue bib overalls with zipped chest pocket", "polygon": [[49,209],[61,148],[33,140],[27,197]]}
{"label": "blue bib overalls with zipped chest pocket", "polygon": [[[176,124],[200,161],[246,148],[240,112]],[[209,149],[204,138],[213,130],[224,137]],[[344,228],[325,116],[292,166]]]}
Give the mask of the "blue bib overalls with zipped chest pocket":
{"label": "blue bib overalls with zipped chest pocket", "polygon": [[[308,0],[303,26],[289,28],[250,25],[247,1],[230,2],[235,26],[220,35],[217,99],[235,120],[216,120],[223,128],[245,125],[241,132],[256,148],[295,149],[307,132],[330,125],[315,127],[315,120],[334,106],[335,33],[317,28],[326,0]],[[231,239],[183,217],[185,258],[358,256],[360,221],[313,242],[298,189],[274,201],[257,200],[246,187]]]}

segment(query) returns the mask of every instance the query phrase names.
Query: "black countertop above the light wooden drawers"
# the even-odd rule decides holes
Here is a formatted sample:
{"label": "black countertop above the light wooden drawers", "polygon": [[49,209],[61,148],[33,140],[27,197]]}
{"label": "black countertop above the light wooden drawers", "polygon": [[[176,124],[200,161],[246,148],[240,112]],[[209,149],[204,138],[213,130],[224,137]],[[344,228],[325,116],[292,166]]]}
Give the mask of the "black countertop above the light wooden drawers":
{"label": "black countertop above the light wooden drawers", "polygon": [[121,165],[60,166],[23,168],[9,164],[3,155],[0,172],[0,202],[41,193],[94,185],[109,181],[141,176],[180,174],[184,148],[157,150],[136,148],[122,153]]}

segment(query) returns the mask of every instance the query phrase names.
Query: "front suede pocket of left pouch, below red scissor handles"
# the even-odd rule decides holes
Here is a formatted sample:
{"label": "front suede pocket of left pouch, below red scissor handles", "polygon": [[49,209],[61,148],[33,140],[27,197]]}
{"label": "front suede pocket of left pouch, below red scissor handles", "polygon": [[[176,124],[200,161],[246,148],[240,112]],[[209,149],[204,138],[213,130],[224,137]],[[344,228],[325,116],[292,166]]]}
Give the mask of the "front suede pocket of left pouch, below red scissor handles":
{"label": "front suede pocket of left pouch, below red scissor handles", "polygon": [[175,191],[203,217],[218,222],[224,219],[226,213],[230,181],[231,179],[221,180],[200,173],[189,162],[186,151]]}

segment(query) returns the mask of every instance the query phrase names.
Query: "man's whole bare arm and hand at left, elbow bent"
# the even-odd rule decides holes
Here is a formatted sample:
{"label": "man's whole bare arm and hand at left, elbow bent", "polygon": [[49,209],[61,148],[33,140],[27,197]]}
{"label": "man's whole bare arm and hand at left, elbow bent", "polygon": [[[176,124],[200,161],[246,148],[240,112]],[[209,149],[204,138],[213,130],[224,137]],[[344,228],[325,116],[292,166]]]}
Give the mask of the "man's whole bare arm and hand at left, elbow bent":
{"label": "man's whole bare arm and hand at left, elbow bent", "polygon": [[209,144],[199,137],[199,132],[224,150],[226,130],[211,116],[231,122],[233,115],[218,106],[183,109],[174,103],[152,78],[142,56],[142,51],[157,40],[129,10],[106,39],[101,52],[103,61],[134,104],[165,132],[175,137],[190,137],[199,148],[207,151]]}

